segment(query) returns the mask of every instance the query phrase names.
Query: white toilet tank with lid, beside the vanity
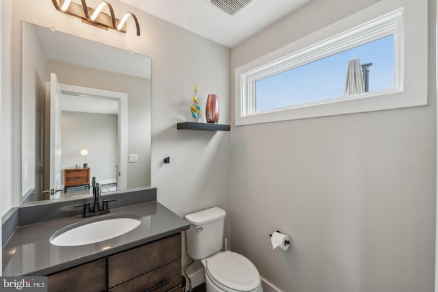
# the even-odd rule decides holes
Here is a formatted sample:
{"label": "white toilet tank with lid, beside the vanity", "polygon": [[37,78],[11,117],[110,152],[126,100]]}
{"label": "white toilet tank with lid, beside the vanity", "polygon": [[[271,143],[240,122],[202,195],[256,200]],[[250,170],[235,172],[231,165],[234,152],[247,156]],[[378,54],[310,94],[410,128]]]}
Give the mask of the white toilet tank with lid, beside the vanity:
{"label": "white toilet tank with lid, beside the vanity", "polygon": [[185,215],[185,221],[190,223],[185,237],[191,258],[200,260],[222,249],[226,214],[224,210],[213,207]]}

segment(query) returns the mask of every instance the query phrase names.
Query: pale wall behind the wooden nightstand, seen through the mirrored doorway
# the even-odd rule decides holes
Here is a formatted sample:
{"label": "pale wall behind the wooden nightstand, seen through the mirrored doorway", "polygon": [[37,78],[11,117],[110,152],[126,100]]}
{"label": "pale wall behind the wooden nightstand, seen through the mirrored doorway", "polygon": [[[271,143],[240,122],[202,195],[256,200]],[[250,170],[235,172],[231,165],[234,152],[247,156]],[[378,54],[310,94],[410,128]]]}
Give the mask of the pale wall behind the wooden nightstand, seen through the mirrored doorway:
{"label": "pale wall behind the wooden nightstand, seen through the mirrored doorway", "polygon": [[[116,183],[117,115],[62,111],[62,169],[83,166],[81,149],[87,149],[90,176],[99,183]],[[64,173],[62,174],[64,184]]]}

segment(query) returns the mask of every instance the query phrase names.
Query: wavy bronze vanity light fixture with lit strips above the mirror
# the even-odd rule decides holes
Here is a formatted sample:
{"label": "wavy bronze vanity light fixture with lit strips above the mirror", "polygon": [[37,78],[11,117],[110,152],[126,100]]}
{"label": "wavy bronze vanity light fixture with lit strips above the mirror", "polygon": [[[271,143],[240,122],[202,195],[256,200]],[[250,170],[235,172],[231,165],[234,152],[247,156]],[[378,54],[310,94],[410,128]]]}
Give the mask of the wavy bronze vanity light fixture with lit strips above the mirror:
{"label": "wavy bronze vanity light fixture with lit strips above the mirror", "polygon": [[[71,0],[52,0],[52,3],[57,11],[79,17],[82,19],[83,23],[94,25],[101,29],[116,29],[123,33],[126,32],[126,22],[129,16],[131,16],[136,23],[137,36],[140,36],[140,25],[138,25],[136,15],[131,12],[126,12],[120,20],[116,18],[112,5],[107,1],[101,1],[96,9],[89,8],[86,0],[81,0],[81,4],[73,3]],[[110,10],[110,15],[102,12],[105,7]]]}

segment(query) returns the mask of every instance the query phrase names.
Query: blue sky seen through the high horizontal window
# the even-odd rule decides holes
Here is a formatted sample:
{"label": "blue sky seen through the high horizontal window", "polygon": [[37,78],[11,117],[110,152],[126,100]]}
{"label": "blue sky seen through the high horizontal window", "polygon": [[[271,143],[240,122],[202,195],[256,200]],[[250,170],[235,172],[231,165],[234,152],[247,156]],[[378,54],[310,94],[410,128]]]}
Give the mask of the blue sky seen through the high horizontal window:
{"label": "blue sky seen through the high horizontal window", "polygon": [[344,96],[348,61],[370,67],[369,91],[394,88],[394,36],[319,59],[255,82],[256,111]]}

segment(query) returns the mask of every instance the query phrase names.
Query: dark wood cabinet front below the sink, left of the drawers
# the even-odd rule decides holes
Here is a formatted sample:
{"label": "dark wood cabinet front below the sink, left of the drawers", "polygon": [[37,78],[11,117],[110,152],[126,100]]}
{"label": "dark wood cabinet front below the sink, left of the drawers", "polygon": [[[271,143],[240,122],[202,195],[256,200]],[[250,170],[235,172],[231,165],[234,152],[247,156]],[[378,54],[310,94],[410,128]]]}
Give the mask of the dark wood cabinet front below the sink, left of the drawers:
{"label": "dark wood cabinet front below the sink, left of the drawers", "polygon": [[79,265],[50,275],[49,292],[100,292],[106,289],[106,259]]}

